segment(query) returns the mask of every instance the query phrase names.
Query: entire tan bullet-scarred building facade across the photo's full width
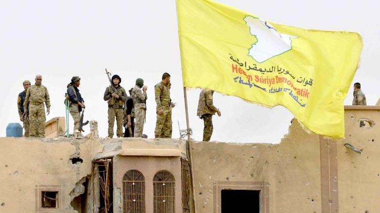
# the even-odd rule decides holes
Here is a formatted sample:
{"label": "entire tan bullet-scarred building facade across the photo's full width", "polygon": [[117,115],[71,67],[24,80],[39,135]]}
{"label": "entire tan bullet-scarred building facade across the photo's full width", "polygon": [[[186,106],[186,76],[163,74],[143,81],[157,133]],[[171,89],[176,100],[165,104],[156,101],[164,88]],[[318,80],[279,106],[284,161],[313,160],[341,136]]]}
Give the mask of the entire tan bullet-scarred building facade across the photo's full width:
{"label": "entire tan bullet-scarred building facade across the photo's full width", "polygon": [[[379,212],[379,112],[380,106],[345,106],[345,139],[338,141],[308,134],[293,119],[280,144],[189,142],[195,212],[220,213],[222,190],[260,191],[262,213]],[[0,144],[0,212],[7,213],[46,212],[40,207],[50,191],[59,192],[55,213],[95,210],[86,197],[94,192],[83,188],[91,187],[92,162],[106,158],[114,161],[114,212],[121,213],[126,170],[140,169],[152,181],[167,169],[181,190],[180,159],[187,152],[175,139],[0,138]],[[180,212],[177,201],[178,191]]]}

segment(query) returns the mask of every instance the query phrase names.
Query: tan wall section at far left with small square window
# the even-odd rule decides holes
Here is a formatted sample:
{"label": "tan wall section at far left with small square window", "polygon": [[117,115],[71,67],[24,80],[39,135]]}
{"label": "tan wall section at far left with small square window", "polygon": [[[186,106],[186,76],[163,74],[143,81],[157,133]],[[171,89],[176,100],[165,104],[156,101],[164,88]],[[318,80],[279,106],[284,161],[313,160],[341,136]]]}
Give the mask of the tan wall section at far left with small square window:
{"label": "tan wall section at far left with small square window", "polygon": [[[76,183],[91,174],[93,153],[101,150],[98,141],[0,138],[0,144],[0,212],[39,213],[41,192],[58,191],[54,212],[76,213],[70,205],[72,192],[80,193]],[[83,162],[72,164],[72,158]]]}

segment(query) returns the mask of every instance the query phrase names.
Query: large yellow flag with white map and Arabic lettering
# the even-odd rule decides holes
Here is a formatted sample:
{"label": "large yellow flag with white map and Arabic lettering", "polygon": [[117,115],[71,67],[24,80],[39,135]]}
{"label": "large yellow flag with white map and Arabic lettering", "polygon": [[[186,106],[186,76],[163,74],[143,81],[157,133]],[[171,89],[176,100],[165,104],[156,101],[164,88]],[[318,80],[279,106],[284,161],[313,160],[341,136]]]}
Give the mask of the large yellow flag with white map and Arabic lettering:
{"label": "large yellow flag with white map and Arabic lettering", "polygon": [[282,105],[310,131],[344,137],[359,33],[276,24],[211,0],[177,0],[177,15],[183,86]]}

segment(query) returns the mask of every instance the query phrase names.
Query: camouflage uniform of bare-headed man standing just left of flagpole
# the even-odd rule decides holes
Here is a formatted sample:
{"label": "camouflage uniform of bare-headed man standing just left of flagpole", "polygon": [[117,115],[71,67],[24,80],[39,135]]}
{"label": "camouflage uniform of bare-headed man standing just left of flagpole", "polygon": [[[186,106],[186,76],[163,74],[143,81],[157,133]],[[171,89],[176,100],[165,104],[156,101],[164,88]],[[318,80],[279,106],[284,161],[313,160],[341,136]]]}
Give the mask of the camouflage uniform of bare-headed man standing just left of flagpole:
{"label": "camouflage uniform of bare-headed man standing just left of flagpole", "polygon": [[[171,127],[171,109],[170,109],[170,91],[163,82],[157,83],[154,86],[154,95],[157,103],[156,113],[156,129],[154,137],[168,137],[164,132],[169,132]],[[163,110],[163,114],[159,115],[158,111]]]}

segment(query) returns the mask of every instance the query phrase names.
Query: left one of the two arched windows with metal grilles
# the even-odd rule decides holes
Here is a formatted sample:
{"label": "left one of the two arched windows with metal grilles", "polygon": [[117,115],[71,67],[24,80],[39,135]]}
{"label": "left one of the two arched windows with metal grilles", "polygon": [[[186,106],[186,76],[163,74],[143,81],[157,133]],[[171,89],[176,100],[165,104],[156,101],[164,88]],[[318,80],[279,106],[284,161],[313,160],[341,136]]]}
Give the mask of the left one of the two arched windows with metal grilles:
{"label": "left one of the two arched windows with metal grilles", "polygon": [[137,170],[129,170],[123,178],[123,213],[145,213],[145,179]]}

